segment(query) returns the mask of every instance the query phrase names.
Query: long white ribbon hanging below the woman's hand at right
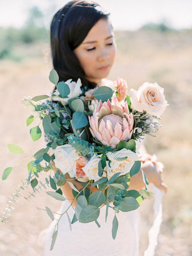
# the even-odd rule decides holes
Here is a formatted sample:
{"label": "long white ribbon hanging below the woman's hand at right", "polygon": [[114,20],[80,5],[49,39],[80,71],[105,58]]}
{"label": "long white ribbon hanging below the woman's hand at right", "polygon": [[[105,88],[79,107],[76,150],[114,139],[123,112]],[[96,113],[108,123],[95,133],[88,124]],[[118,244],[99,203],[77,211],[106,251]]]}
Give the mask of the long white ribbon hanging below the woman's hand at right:
{"label": "long white ribbon hanging below the woman's hand at right", "polygon": [[154,186],[153,194],[155,196],[155,202],[153,205],[154,221],[148,233],[149,245],[147,250],[144,252],[144,256],[155,255],[155,248],[156,248],[156,245],[158,244],[157,237],[158,237],[161,222],[162,222],[162,198],[164,195],[164,191]]}

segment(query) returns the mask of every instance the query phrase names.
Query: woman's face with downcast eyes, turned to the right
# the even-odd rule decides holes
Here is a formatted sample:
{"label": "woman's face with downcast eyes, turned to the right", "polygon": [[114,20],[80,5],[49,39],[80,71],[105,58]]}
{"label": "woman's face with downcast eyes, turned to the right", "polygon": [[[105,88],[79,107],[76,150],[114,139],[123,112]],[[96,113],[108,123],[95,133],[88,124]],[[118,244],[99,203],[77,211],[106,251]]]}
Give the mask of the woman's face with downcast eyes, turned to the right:
{"label": "woman's face with downcast eyes, turned to the right", "polygon": [[113,65],[116,42],[108,19],[100,19],[74,50],[88,81],[98,83]]}

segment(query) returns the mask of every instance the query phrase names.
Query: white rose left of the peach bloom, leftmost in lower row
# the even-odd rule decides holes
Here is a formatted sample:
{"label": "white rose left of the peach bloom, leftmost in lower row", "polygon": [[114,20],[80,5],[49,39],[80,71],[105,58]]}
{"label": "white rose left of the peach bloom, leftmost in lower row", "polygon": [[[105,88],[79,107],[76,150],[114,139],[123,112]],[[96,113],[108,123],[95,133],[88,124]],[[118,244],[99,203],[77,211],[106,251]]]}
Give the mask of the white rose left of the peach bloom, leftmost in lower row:
{"label": "white rose left of the peach bloom, leftmost in lower row", "polygon": [[76,162],[80,157],[78,151],[69,144],[57,146],[55,148],[55,166],[61,170],[63,174],[67,173],[71,178],[76,174]]}

